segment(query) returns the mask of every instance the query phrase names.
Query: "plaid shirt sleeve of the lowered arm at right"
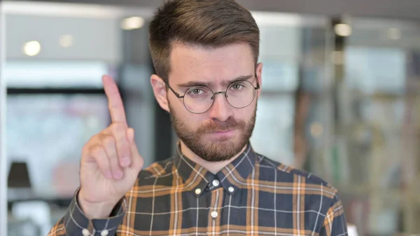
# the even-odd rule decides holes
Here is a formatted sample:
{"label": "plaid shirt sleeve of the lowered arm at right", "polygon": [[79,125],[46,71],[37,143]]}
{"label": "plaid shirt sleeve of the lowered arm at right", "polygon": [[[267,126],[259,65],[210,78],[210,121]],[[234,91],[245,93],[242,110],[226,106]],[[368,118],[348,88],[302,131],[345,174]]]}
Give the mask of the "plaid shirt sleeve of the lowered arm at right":
{"label": "plaid shirt sleeve of the lowered arm at right", "polygon": [[332,199],[330,207],[319,232],[320,236],[342,236],[347,235],[347,223],[344,216],[342,202],[336,194]]}

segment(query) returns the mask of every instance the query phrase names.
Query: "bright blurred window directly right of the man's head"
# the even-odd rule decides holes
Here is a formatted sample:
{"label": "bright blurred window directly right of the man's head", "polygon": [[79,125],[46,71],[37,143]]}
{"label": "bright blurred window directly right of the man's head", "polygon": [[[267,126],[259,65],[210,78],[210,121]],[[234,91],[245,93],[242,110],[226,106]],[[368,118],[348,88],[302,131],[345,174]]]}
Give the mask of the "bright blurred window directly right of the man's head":
{"label": "bright blurred window directly right of the man's head", "polygon": [[[309,155],[304,151],[307,148],[304,124],[314,117],[307,116],[310,113],[306,110],[309,109],[307,99],[301,99],[300,95],[307,97],[317,90],[326,90],[328,20],[286,13],[255,12],[253,15],[260,27],[263,69],[251,144],[262,155],[303,169]],[[298,90],[303,92],[297,96]],[[319,123],[327,121],[318,120]],[[297,132],[302,139],[294,138]],[[300,140],[304,141],[296,145]]]}

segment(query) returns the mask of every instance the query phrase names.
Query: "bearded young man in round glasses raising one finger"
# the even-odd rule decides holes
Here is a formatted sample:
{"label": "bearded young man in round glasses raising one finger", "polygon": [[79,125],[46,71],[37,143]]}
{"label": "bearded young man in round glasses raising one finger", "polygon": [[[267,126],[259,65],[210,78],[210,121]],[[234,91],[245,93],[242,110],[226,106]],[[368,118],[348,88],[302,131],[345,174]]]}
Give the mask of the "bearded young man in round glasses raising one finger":
{"label": "bearded young man in round glasses raising one finger", "polygon": [[[150,25],[153,92],[177,154],[144,170],[123,102],[83,148],[80,188],[49,235],[346,235],[337,190],[253,151],[259,29],[232,0],[174,0]],[[162,147],[169,148],[169,147]]]}

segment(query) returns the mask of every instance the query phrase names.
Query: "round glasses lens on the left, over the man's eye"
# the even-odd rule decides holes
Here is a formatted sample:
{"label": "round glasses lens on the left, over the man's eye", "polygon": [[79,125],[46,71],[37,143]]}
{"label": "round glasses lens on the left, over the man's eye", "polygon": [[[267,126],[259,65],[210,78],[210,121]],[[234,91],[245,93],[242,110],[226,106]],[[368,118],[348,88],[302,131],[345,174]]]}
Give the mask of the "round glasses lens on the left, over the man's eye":
{"label": "round glasses lens on the left, over the man's eye", "polygon": [[188,111],[202,113],[213,104],[212,96],[213,92],[209,88],[197,86],[187,90],[183,102]]}

